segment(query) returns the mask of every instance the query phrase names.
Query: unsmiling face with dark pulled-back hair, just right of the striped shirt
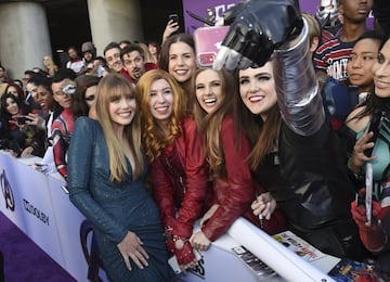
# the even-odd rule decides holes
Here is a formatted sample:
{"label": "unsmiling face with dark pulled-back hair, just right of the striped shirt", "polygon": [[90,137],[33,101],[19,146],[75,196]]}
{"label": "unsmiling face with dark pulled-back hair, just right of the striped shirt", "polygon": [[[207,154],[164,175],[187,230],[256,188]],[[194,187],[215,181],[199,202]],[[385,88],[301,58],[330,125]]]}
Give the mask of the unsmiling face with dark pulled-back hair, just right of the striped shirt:
{"label": "unsmiling face with dark pulled-back hair, just right of the striped shirt", "polygon": [[379,40],[367,38],[358,41],[353,47],[347,64],[347,74],[352,86],[369,88],[373,82],[372,67],[378,56],[379,44]]}

